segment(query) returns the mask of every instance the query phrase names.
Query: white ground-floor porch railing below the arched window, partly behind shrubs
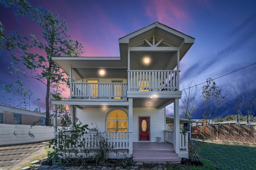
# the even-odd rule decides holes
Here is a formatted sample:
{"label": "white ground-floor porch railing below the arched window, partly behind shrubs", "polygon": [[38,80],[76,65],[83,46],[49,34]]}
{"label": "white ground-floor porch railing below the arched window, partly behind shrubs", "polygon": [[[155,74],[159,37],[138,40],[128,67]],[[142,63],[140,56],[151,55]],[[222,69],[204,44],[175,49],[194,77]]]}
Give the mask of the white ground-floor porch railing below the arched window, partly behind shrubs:
{"label": "white ground-floor porch railing below the arched window, partly behind shrubs", "polygon": [[[75,150],[78,151],[84,149],[93,150],[100,147],[100,142],[102,142],[103,139],[108,143],[108,146],[113,147],[113,149],[129,149],[129,132],[87,132],[83,135],[80,133],[79,135],[73,134],[72,136],[72,131],[66,131],[55,133],[55,135],[58,138],[57,147],[65,145],[63,139],[67,139],[69,136],[73,143],[72,146],[70,144],[68,147],[75,148]],[[77,139],[74,140],[74,137],[77,137]],[[76,141],[76,143],[74,143],[74,141]]]}

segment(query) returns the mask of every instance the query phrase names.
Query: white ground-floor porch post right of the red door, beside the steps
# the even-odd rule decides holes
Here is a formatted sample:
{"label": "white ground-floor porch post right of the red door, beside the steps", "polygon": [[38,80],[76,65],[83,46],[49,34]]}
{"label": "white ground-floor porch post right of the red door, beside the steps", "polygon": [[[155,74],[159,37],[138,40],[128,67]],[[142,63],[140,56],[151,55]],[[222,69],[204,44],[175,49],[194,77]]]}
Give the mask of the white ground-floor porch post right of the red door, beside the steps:
{"label": "white ground-floor porch post right of the red door, beside the steps", "polygon": [[174,100],[174,150],[180,153],[180,117],[179,117],[179,98]]}

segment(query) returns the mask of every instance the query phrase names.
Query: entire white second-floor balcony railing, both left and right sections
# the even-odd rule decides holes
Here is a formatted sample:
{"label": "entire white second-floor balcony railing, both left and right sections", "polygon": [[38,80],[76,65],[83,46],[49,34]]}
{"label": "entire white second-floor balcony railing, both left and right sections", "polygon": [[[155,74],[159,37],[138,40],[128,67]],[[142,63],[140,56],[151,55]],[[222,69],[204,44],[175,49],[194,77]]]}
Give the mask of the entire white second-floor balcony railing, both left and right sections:
{"label": "entire white second-floor balcony railing, both left and right sections", "polygon": [[126,100],[127,91],[178,91],[178,70],[130,70],[126,83],[70,83],[72,99]]}

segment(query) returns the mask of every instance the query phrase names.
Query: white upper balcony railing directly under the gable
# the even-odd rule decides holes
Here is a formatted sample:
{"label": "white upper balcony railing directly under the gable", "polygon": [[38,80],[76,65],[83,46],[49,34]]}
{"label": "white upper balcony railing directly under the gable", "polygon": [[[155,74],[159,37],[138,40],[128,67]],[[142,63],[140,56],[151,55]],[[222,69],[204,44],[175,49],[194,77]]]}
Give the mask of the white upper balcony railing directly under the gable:
{"label": "white upper balcony railing directly under the gable", "polygon": [[179,70],[130,70],[128,90],[179,90]]}

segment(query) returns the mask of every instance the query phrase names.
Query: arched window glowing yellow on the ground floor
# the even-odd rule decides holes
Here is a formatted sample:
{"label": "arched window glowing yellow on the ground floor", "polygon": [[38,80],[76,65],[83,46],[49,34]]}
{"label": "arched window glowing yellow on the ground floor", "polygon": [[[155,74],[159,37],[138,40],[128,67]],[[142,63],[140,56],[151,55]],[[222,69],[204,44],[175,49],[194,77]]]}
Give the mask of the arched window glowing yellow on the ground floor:
{"label": "arched window glowing yellow on the ground floor", "polygon": [[126,132],[128,131],[128,118],[122,110],[113,110],[107,116],[108,132]]}

